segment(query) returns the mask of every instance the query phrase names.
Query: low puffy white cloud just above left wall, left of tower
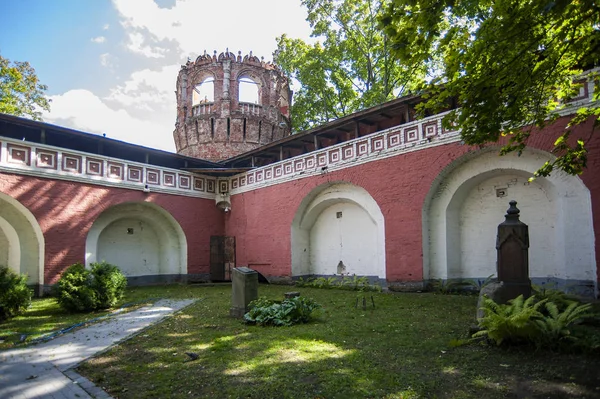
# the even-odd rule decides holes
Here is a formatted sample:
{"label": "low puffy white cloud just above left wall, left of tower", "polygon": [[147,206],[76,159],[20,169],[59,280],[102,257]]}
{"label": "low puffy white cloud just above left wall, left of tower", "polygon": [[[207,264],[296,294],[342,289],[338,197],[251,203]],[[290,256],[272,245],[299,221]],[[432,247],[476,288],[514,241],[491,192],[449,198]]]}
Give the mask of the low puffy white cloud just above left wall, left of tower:
{"label": "low puffy white cloud just above left wall, left of tower", "polygon": [[124,109],[109,107],[88,90],[69,90],[50,99],[52,111],[43,115],[50,123],[98,134],[106,133],[109,138],[174,151],[172,140],[165,140],[165,137],[172,137],[172,119],[157,123],[135,118]]}

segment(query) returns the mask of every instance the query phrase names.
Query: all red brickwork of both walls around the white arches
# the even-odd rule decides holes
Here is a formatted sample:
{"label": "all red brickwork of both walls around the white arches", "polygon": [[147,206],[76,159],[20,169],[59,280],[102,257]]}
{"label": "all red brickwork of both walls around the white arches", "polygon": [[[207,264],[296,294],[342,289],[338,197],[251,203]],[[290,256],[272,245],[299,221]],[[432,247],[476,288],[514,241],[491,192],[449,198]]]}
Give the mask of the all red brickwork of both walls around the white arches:
{"label": "all red brickwork of both walls around the white arches", "polygon": [[[530,147],[552,149],[564,131],[563,118],[533,134]],[[600,262],[600,138],[592,123],[578,127],[577,137],[588,141],[588,168],[581,176],[590,190]],[[257,187],[231,196],[231,212],[223,214],[214,199],[106,187],[85,182],[52,180],[3,172],[0,192],[15,198],[37,219],[45,239],[44,282],[56,282],[70,264],[85,261],[85,240],[96,218],[125,202],[152,202],[169,212],[183,229],[188,246],[188,273],[209,272],[211,235],[236,237],[238,265],[249,265],[268,276],[291,274],[291,224],[302,200],[322,184],[347,182],[364,188],[385,218],[386,278],[418,282],[423,279],[423,204],[436,177],[476,148],[457,141],[347,165],[309,177]],[[540,165],[541,166],[541,165]],[[600,276],[598,276],[600,277]]]}

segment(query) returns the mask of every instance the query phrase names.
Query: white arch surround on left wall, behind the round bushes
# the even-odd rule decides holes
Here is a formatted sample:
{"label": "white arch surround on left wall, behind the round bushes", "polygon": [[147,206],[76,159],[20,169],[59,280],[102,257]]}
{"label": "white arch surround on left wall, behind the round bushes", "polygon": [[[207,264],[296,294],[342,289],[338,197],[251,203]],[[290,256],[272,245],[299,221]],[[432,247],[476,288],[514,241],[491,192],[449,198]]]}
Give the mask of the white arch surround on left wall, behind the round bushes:
{"label": "white arch surround on left wall, behind the round bushes", "polygon": [[[169,212],[150,202],[123,203],[102,212],[86,238],[86,266],[103,260],[98,259],[100,236],[121,220],[147,223],[156,232],[161,249],[158,274],[187,274],[187,240],[183,229]],[[132,277],[140,275],[134,269],[123,272]]]}

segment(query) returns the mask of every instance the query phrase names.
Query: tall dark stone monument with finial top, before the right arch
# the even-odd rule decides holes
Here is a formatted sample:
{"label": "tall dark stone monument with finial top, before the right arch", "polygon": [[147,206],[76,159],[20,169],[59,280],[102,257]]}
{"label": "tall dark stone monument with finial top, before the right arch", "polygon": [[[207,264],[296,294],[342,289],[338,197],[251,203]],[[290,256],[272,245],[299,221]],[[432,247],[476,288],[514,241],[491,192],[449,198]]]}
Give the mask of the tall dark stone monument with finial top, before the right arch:
{"label": "tall dark stone monument with finial top, before the right arch", "polygon": [[[529,279],[529,227],[519,220],[517,201],[510,201],[506,220],[498,225],[498,281],[504,283],[505,295],[513,299],[531,296]],[[507,300],[508,300],[507,299]]]}

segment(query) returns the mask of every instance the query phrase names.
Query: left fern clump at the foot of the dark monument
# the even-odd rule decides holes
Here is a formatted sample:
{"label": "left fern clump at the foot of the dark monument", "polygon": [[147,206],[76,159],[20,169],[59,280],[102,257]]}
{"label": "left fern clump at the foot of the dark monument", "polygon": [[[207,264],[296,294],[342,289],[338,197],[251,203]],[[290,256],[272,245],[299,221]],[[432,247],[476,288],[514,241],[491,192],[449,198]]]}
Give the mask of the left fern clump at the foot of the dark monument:
{"label": "left fern clump at the foot of the dark monument", "polygon": [[473,337],[487,337],[498,346],[536,342],[541,333],[534,321],[543,317],[539,309],[546,301],[536,301],[533,296],[525,300],[519,295],[507,304],[497,304],[484,298],[485,316],[478,320],[481,330]]}

